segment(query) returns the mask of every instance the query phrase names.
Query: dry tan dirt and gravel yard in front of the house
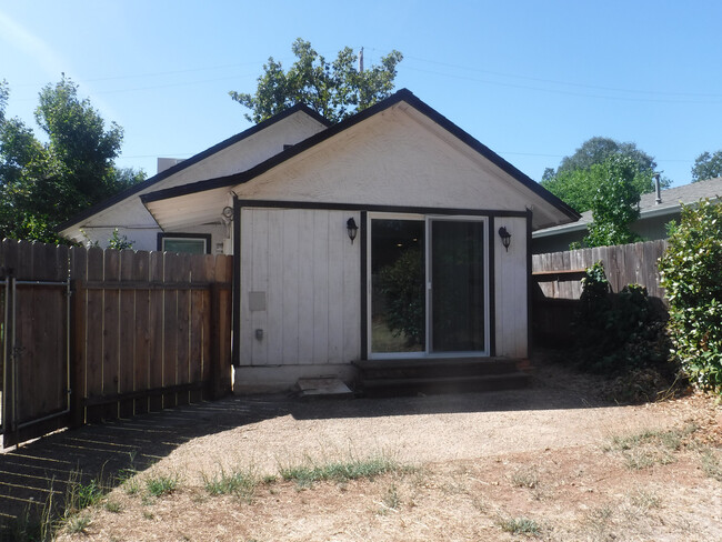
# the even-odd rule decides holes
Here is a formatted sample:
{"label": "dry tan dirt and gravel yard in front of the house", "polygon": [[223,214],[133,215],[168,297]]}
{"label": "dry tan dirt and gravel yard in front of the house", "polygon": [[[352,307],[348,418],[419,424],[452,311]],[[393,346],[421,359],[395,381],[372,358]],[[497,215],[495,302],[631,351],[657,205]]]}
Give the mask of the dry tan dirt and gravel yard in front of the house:
{"label": "dry tan dirt and gravel yard in front of the house", "polygon": [[[598,391],[542,364],[519,391],[230,398],[168,453],[131,451],[152,465],[59,540],[722,540],[722,409],[701,394],[620,406]],[[372,478],[281,475],[379,458],[391,470]]]}

